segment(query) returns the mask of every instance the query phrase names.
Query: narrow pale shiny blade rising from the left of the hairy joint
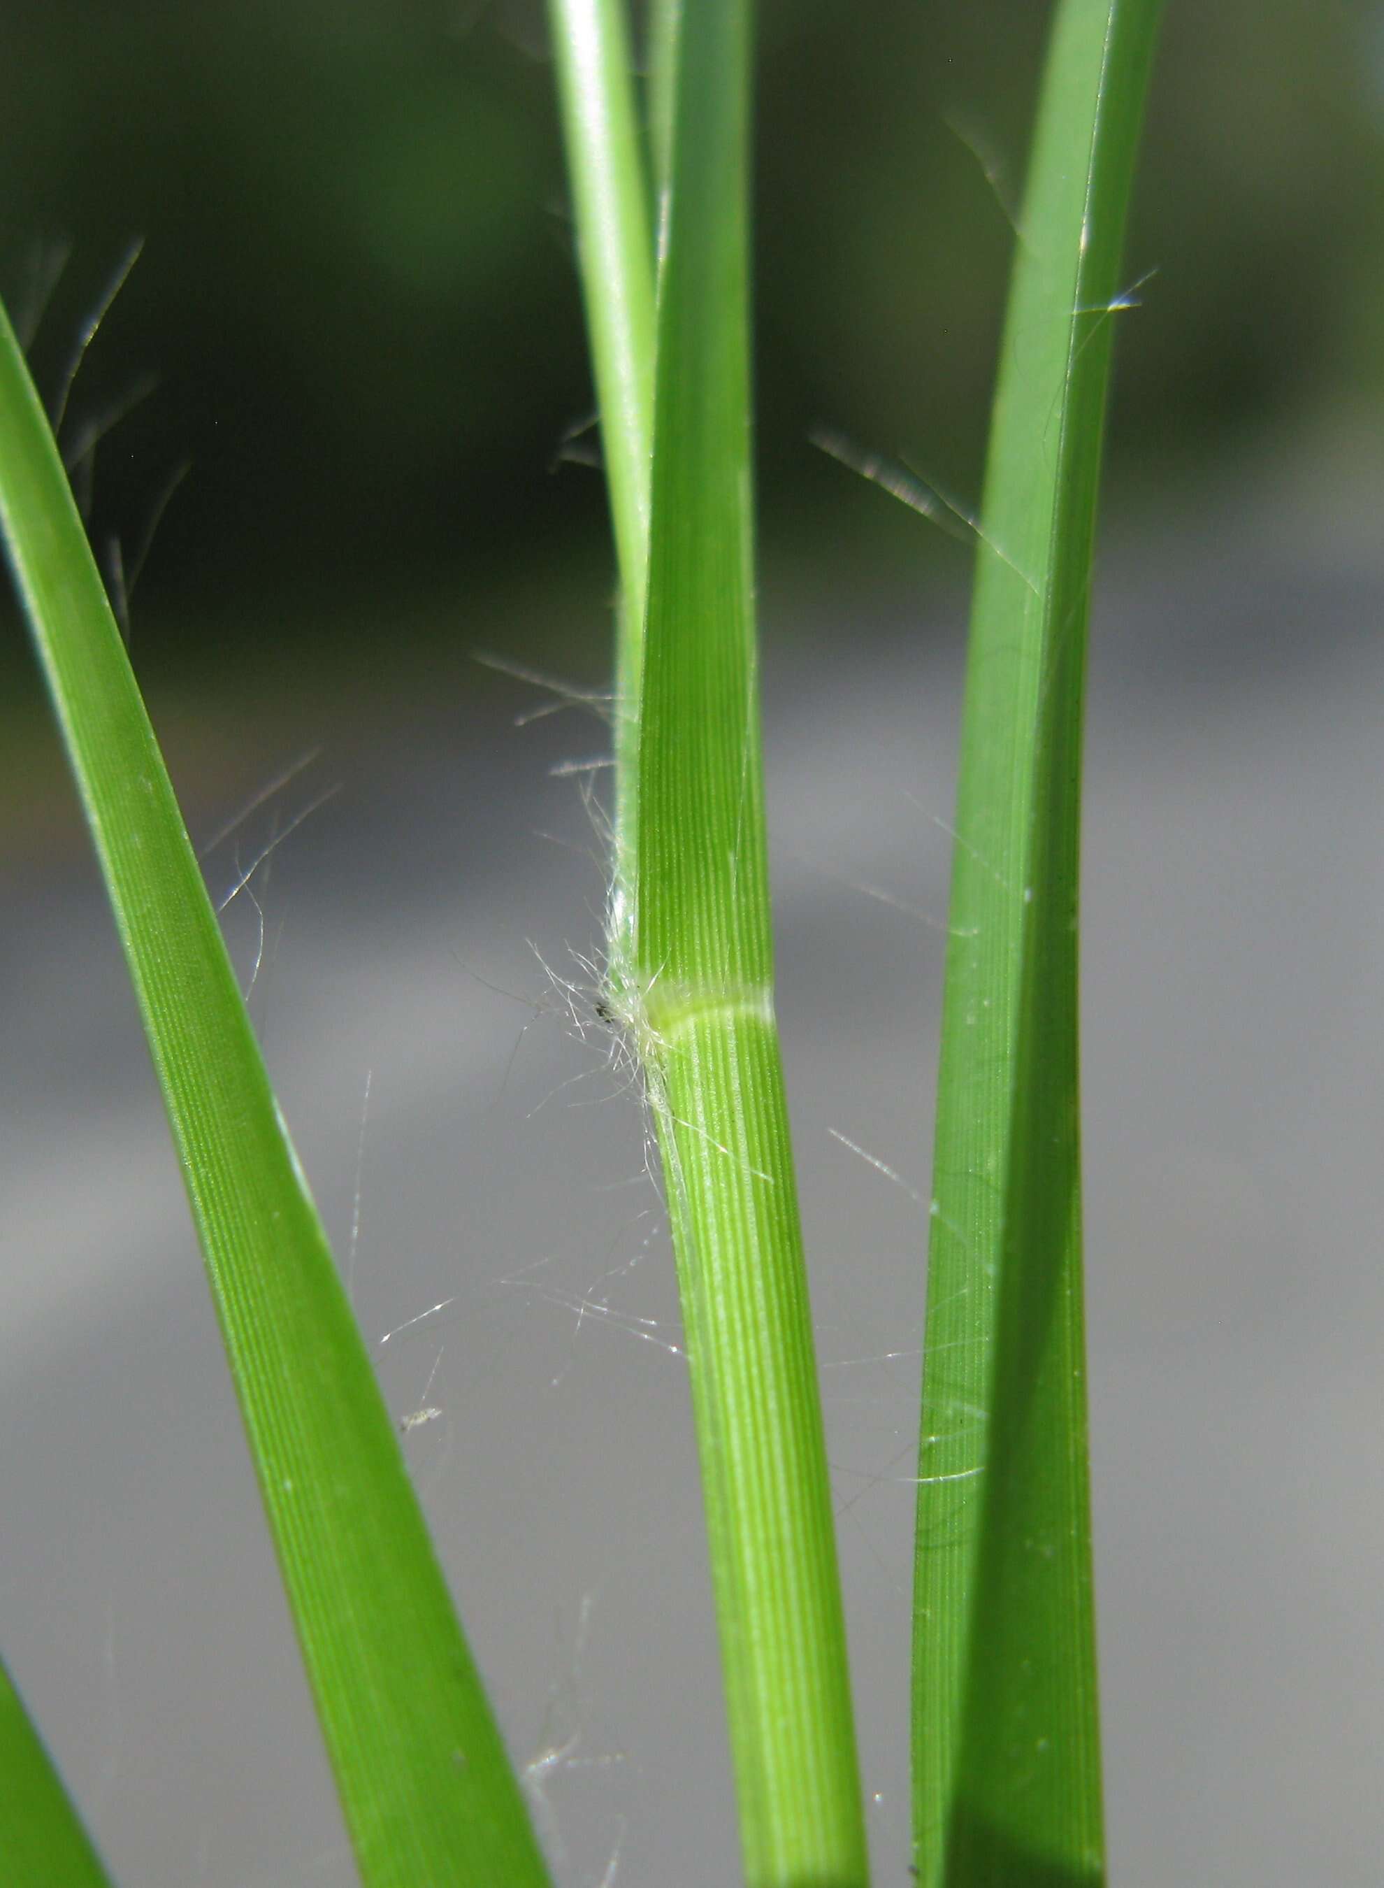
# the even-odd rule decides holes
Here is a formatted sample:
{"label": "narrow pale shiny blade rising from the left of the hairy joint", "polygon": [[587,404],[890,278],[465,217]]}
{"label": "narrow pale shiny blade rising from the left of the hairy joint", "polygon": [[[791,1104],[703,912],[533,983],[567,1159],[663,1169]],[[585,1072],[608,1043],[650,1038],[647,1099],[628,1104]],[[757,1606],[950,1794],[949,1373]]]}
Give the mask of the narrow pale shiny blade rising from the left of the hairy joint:
{"label": "narrow pale shiny blade rising from the left of the hairy joint", "polygon": [[653,242],[623,0],[549,0],[600,442],[619,563],[612,931],[629,952],[638,819],[636,704],[653,453]]}

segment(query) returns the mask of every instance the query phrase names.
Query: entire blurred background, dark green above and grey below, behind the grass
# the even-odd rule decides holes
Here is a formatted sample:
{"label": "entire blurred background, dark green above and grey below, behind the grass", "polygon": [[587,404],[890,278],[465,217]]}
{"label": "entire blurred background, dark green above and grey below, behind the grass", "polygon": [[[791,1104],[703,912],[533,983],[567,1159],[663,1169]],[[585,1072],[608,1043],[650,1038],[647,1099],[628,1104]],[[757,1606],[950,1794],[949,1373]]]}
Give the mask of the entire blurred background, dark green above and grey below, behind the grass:
{"label": "entire blurred background, dark green above and grey below, behind the grass", "polygon": [[[761,30],[780,1014],[876,1879],[899,1884],[914,1195],[969,555],[806,436],[976,498],[1044,23],[1031,0],[782,0]],[[49,391],[134,236],[66,438],[125,413],[79,478],[127,568],[191,463],[136,666],[211,889],[281,840],[227,929],[389,1403],[436,1410],[406,1448],[555,1875],[734,1880],[667,1227],[638,1106],[548,976],[582,984],[572,952],[599,942],[599,840],[563,767],[604,729],[529,719],[555,697],[474,661],[606,672],[540,9],[11,0],[0,281],[36,315],[66,249],[32,349]],[[1088,717],[1112,1880],[1365,1888],[1384,9],[1171,8],[1129,240],[1129,279],[1148,270]],[[0,1644],[119,1880],[336,1888],[353,1869],[160,1104],[4,629]]]}

